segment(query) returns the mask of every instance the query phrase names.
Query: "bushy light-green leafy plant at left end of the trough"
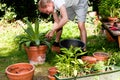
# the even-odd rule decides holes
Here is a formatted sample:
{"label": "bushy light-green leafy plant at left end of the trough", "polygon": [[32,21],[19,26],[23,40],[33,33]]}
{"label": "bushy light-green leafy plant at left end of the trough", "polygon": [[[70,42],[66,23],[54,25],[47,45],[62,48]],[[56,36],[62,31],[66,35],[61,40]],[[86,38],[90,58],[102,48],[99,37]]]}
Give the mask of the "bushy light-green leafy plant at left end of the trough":
{"label": "bushy light-green leafy plant at left end of the trough", "polygon": [[[76,77],[84,67],[84,63],[78,56],[84,55],[81,48],[71,46],[69,49],[61,48],[63,54],[57,55],[58,62],[56,67],[59,70],[61,77]],[[79,51],[79,53],[78,53]]]}

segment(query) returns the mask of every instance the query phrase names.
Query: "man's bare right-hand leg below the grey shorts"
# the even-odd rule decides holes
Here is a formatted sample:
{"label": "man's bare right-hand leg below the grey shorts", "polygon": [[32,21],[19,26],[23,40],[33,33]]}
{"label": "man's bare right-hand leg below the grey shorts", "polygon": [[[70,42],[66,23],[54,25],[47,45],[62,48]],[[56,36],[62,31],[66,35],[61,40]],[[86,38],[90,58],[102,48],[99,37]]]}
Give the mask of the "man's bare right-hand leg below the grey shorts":
{"label": "man's bare right-hand leg below the grey shorts", "polygon": [[84,51],[86,51],[87,31],[84,22],[78,22],[78,28],[80,30],[81,41],[85,43]]}

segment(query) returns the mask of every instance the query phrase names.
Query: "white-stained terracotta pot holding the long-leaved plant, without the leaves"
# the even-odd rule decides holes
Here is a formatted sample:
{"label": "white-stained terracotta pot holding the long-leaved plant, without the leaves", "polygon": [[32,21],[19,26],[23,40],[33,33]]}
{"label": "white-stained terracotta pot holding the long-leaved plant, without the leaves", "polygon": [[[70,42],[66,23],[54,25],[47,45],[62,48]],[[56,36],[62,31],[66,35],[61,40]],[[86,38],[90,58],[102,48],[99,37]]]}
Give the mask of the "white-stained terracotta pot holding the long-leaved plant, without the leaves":
{"label": "white-stained terracotta pot holding the long-leaved plant, without the leaves", "polygon": [[25,47],[30,64],[43,64],[46,60],[47,46],[41,45]]}

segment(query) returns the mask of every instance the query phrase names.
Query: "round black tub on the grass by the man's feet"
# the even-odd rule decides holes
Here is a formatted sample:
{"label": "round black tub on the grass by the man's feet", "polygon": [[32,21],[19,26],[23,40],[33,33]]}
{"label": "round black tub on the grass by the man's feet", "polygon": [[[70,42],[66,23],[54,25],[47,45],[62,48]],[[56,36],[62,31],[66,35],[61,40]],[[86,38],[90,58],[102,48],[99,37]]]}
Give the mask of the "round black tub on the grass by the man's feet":
{"label": "round black tub on the grass by the man's feet", "polygon": [[81,47],[81,49],[83,49],[85,46],[85,44],[79,39],[65,39],[60,41],[59,45],[61,48],[70,48],[70,46],[73,46],[73,47]]}

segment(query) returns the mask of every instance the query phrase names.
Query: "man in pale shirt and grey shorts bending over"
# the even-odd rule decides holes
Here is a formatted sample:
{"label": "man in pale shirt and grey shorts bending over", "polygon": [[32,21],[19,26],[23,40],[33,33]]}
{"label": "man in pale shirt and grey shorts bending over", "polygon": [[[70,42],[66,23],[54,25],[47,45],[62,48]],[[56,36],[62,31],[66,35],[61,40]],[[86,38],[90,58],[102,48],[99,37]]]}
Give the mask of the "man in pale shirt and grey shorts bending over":
{"label": "man in pale shirt and grey shorts bending over", "polygon": [[[76,16],[81,41],[86,44],[87,32],[85,29],[85,19],[88,9],[87,0],[40,0],[38,2],[38,9],[42,13],[52,14],[54,18],[53,28],[46,34],[47,38],[52,38],[56,33],[55,42],[58,43],[63,26],[67,23],[68,19],[74,20]],[[58,15],[57,11],[60,12],[60,15]],[[84,50],[86,50],[86,47]]]}

